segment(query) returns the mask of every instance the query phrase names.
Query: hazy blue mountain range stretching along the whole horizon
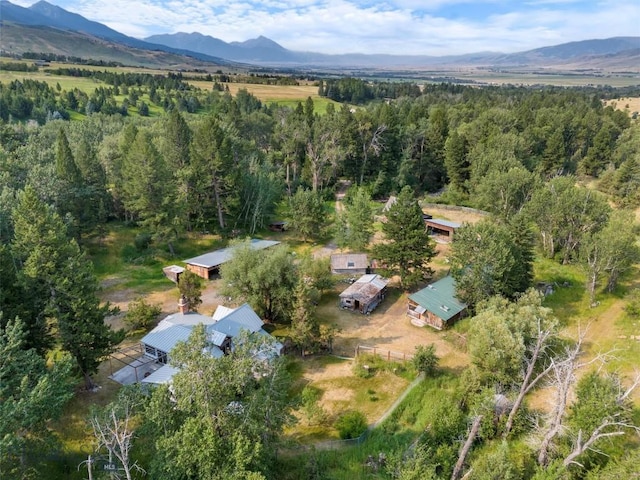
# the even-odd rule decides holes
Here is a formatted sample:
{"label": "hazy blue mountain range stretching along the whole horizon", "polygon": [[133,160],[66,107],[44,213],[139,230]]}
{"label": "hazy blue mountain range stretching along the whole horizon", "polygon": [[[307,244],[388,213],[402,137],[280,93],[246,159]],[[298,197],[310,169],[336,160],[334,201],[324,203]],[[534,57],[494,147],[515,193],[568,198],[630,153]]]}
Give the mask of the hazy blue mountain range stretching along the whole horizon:
{"label": "hazy blue mountain range stretching along the whole horizon", "polygon": [[137,39],[41,0],[28,8],[0,0],[0,49],[101,58],[144,66],[199,63],[274,67],[418,68],[437,66],[554,67],[640,72],[640,37],[584,40],[504,54],[455,56],[342,54],[288,50],[266,37],[224,42],[201,33]]}

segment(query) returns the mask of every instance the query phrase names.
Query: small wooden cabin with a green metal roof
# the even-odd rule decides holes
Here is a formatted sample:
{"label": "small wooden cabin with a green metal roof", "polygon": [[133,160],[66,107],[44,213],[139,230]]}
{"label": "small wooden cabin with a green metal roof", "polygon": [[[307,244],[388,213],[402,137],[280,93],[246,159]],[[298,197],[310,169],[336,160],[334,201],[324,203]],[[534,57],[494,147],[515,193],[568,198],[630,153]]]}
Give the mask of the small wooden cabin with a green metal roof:
{"label": "small wooden cabin with a green metal roof", "polygon": [[456,298],[456,283],[449,275],[409,295],[407,315],[417,327],[430,325],[442,330],[462,317],[466,310],[467,305]]}

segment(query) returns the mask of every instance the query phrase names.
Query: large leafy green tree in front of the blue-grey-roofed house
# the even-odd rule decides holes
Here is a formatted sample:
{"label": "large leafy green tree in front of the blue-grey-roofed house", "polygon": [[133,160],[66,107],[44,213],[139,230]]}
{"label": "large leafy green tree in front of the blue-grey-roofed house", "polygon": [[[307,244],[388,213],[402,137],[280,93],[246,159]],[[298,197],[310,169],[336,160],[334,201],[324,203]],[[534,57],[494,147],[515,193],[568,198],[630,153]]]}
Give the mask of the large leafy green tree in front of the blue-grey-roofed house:
{"label": "large leafy green tree in front of the blue-grey-roofed house", "polygon": [[290,379],[283,359],[253,357],[268,348],[256,343],[267,341],[259,337],[240,335],[231,353],[213,358],[204,327],[197,326],[171,352],[180,371],[171,389],[153,391],[146,412],[154,478],[266,478],[291,419]]}

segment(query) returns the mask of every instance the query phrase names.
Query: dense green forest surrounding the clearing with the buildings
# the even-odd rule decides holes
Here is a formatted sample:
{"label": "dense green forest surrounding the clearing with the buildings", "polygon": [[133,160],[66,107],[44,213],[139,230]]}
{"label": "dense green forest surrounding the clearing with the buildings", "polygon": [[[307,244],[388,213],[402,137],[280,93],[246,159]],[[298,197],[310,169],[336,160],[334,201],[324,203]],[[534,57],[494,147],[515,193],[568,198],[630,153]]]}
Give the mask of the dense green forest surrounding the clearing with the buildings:
{"label": "dense green forest surrounding the clearing with the buildings", "polygon": [[[319,94],[344,103],[319,114],[311,98],[293,108],[265,104],[246,90],[232,97],[214,79],[204,91],[179,73],[92,75],[104,83],[90,93],[0,83],[2,478],[42,474],[57,448],[48,425],[79,384],[95,387],[99,364],[124,337],[104,323],[113,309],[100,300],[87,253],[113,225],[134,228],[137,246],[171,256],[187,236],[243,238],[284,218],[304,243],[335,237],[343,248],[370,251],[408,291],[429,278],[434,255],[419,200],[490,213],[460,229],[450,257],[472,307],[464,332],[471,365],[455,379],[434,373],[435,358],[417,365],[433,377],[425,385],[449,379],[452,393],[411,447],[389,447],[371,478],[636,472],[638,379],[629,386],[602,367],[578,378],[601,358],[583,360],[580,328],[563,335],[566,325],[530,289],[543,258],[583,272],[596,305],[607,292],[624,295],[621,284],[640,261],[640,125],[632,112],[603,106],[615,91],[330,79]],[[353,187],[345,214],[334,218],[324,202],[344,180]],[[374,245],[370,206],[391,195],[397,206],[380,227],[387,242]],[[324,287],[311,292],[301,279],[323,277],[287,258],[274,254],[269,265],[282,274],[273,288],[291,294],[279,291],[259,310],[291,325],[302,353],[320,351],[314,342],[331,332],[311,317]],[[240,292],[241,267],[222,272],[235,279],[238,291],[228,293],[237,298],[252,288]],[[264,297],[256,293],[252,306]],[[637,303],[629,303],[634,318]],[[212,362],[203,341],[194,336],[175,352],[184,375],[173,394],[123,389],[88,420],[102,447],[112,441],[107,427],[120,440],[139,427],[133,456],[130,443],[109,444],[127,465],[122,477],[341,478],[323,473],[330,460],[321,452],[278,457],[290,411],[304,401],[284,395],[284,363],[256,379],[246,351]],[[216,380],[199,382],[203,371]],[[536,416],[524,399],[543,379],[553,380],[546,388],[555,389],[557,408]],[[498,393],[512,400],[506,412],[494,404]],[[242,408],[230,414],[236,404]],[[389,435],[393,421],[383,428]],[[467,457],[472,449],[483,453]]]}

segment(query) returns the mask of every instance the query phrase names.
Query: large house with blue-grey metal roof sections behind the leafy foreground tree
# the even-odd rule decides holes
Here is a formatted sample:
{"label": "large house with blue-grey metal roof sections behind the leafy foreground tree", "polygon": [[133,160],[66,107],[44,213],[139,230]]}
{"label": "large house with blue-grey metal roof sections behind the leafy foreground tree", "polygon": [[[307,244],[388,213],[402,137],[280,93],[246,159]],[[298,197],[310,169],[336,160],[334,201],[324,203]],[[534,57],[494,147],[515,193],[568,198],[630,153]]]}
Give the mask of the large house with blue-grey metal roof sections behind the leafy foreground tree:
{"label": "large house with blue-grey metal roof sections behind the leafy foreground tree", "polygon": [[[178,342],[187,341],[193,328],[200,324],[204,325],[207,334],[207,353],[214,358],[220,358],[233,350],[234,341],[237,341],[237,337],[243,331],[250,336],[271,338],[262,328],[264,322],[246,303],[235,309],[219,306],[212,317],[182,309],[162,320],[140,340],[145,357],[162,364],[162,367],[145,377],[143,383],[160,384],[171,380],[177,371],[176,367],[171,365],[171,350]],[[265,360],[280,355],[282,348],[279,342],[265,342],[254,352],[254,357]]]}

